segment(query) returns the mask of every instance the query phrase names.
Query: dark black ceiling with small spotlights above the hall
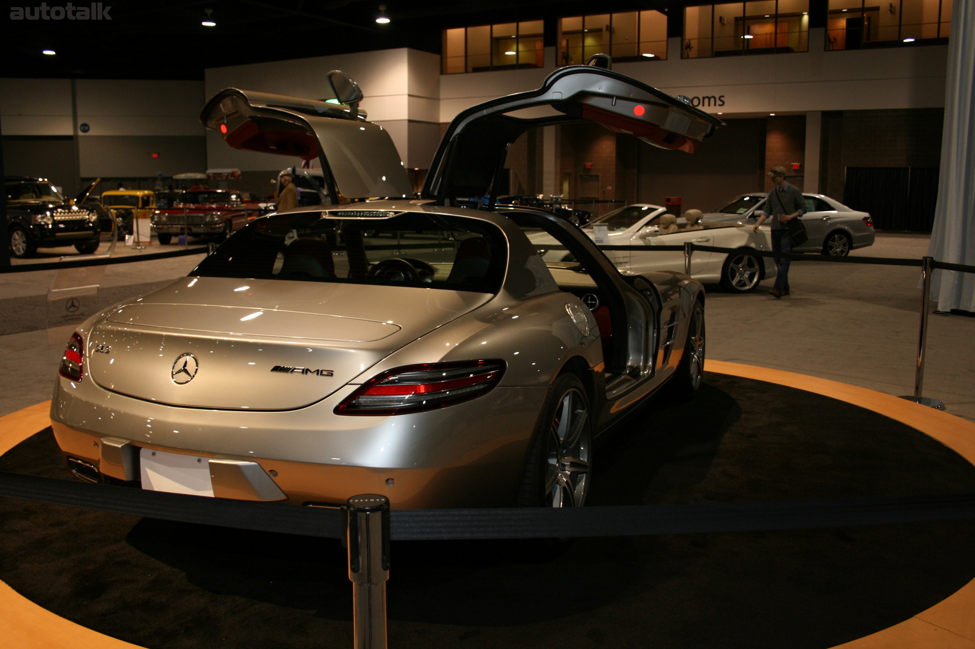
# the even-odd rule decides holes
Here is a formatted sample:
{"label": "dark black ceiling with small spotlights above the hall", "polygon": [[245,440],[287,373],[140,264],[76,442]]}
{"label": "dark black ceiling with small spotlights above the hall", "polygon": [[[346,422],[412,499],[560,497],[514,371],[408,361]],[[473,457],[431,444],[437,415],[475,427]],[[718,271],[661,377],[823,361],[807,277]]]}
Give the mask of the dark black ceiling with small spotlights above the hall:
{"label": "dark black ceiling with small spotlights above the hall", "polygon": [[[27,3],[24,3],[27,5]],[[53,0],[48,7],[66,7]],[[88,2],[71,3],[88,7]],[[439,54],[442,30],[515,20],[550,20],[683,3],[565,0],[207,0],[101,3],[111,20],[2,20],[3,71],[21,78],[201,79],[207,67],[409,47]],[[386,5],[392,20],[375,22]],[[40,3],[31,2],[33,8]],[[201,21],[211,9],[217,23]],[[8,11],[4,9],[3,11]],[[547,25],[548,26],[548,25]],[[42,50],[55,50],[46,56]]]}

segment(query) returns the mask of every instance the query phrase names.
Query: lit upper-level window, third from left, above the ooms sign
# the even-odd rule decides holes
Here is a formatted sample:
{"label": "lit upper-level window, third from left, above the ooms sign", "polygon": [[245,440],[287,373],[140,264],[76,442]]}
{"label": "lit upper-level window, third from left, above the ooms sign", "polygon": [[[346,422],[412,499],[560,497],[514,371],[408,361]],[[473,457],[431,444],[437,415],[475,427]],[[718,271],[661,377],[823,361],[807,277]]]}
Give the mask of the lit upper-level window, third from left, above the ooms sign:
{"label": "lit upper-level window, third from left, above the ooms sign", "polygon": [[685,7],[683,59],[808,52],[809,0]]}

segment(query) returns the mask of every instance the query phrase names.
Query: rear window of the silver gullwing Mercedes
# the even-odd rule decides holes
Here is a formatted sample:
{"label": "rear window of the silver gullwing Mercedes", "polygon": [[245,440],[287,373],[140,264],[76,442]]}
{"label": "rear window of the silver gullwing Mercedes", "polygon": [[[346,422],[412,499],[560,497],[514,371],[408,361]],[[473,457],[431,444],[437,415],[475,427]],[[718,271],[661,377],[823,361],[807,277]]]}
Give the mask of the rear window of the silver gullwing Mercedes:
{"label": "rear window of the silver gullwing Mercedes", "polygon": [[191,274],[497,293],[506,252],[501,230],[476,219],[295,212],[250,223]]}

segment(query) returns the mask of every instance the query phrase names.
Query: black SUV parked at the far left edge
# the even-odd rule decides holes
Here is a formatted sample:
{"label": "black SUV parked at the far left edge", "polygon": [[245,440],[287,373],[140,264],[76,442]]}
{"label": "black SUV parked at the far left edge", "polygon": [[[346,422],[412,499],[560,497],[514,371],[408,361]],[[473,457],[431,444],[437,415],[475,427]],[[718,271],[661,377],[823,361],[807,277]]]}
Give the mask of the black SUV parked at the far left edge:
{"label": "black SUV parked at the far left edge", "polygon": [[79,253],[98,250],[98,213],[78,207],[88,187],[68,201],[43,178],[7,176],[7,236],[14,257],[33,257],[38,248],[74,246]]}

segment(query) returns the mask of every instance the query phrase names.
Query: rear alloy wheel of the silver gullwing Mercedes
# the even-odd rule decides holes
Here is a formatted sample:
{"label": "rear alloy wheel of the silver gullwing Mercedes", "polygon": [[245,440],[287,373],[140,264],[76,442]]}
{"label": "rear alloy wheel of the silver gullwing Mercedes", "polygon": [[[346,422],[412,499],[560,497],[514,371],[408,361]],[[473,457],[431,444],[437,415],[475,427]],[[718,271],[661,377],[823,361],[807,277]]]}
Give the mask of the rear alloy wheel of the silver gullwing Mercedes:
{"label": "rear alloy wheel of the silver gullwing Mercedes", "polygon": [[582,507],[589,487],[591,436],[586,397],[570,387],[552,418],[545,463],[546,506]]}

